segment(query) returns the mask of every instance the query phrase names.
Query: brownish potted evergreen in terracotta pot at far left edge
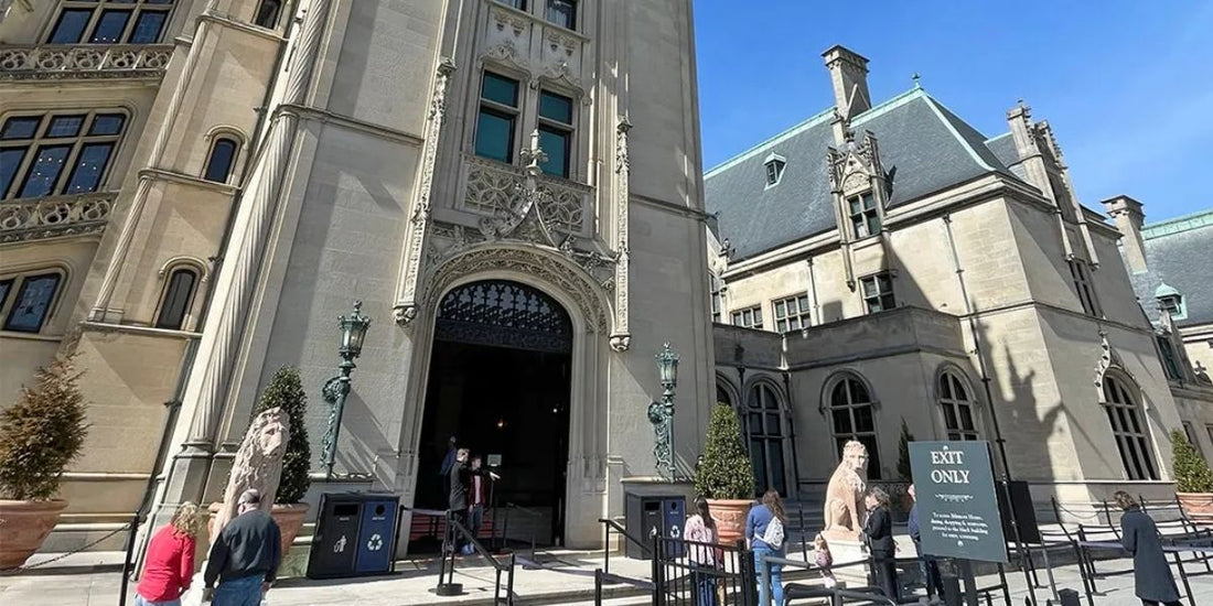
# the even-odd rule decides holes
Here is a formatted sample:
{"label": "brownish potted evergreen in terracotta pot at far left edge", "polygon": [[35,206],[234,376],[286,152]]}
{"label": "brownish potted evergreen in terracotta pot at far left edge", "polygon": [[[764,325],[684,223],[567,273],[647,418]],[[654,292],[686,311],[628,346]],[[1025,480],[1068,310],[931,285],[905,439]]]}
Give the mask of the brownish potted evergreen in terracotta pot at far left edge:
{"label": "brownish potted evergreen in terracotta pot at far left edge", "polygon": [[0,415],[0,570],[24,564],[68,507],[55,494],[89,433],[74,358],[39,368],[36,387]]}

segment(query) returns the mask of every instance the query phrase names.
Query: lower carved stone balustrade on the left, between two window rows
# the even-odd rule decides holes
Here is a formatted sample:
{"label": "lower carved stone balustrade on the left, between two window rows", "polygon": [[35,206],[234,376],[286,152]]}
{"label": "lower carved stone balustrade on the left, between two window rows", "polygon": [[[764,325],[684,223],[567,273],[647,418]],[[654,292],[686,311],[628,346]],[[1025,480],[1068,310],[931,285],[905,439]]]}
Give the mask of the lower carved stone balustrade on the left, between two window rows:
{"label": "lower carved stone balustrade on the left, between two window rows", "polygon": [[0,244],[99,234],[118,191],[57,195],[0,202]]}

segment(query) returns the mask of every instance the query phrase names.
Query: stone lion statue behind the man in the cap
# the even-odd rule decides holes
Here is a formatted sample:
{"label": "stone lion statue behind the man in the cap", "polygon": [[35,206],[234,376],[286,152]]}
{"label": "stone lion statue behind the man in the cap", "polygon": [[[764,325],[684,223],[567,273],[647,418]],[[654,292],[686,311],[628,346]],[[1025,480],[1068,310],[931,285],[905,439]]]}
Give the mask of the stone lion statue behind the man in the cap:
{"label": "stone lion statue behind the man in the cap", "polygon": [[283,474],[283,456],[286,454],[286,442],[290,441],[289,428],[290,418],[281,408],[269,408],[252,419],[252,425],[244,434],[240,450],[235,453],[232,475],[223,491],[223,503],[215,516],[212,543],[238,515],[237,502],[244,491],[254,488],[261,493],[261,509],[269,511],[274,507],[278,480]]}

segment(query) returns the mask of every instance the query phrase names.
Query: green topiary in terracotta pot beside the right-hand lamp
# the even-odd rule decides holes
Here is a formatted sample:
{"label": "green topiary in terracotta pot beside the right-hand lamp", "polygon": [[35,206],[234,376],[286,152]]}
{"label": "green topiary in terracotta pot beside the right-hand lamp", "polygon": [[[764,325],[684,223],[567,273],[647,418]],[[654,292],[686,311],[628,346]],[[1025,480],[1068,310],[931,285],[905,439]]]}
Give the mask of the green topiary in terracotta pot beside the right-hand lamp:
{"label": "green topiary in terracotta pot beside the right-hand lamp", "polygon": [[754,471],[741,446],[738,413],[727,404],[712,407],[704,456],[695,470],[695,491],[707,498],[722,543],[745,536],[746,514],[753,505]]}

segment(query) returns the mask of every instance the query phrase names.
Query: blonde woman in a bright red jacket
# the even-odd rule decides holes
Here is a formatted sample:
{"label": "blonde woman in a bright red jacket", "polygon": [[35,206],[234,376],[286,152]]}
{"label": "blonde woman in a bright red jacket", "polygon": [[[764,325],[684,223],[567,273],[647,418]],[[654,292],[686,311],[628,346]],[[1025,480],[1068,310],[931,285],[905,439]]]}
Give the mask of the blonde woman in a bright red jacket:
{"label": "blonde woman in a bright red jacket", "polygon": [[135,606],[181,606],[181,594],[194,578],[194,545],[205,524],[205,511],[187,502],[171,524],[156,531],[148,544]]}

